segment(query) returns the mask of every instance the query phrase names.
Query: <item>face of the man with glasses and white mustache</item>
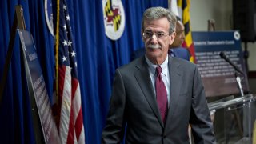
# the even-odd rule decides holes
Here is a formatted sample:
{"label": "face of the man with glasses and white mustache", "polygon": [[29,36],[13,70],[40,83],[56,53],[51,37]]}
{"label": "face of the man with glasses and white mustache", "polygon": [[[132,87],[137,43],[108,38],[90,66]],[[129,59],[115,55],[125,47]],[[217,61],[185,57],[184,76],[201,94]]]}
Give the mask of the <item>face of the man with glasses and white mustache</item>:
{"label": "face of the man with glasses and white mustache", "polygon": [[167,18],[145,21],[144,29],[142,39],[145,43],[146,56],[154,64],[160,65],[166,59],[169,46],[174,42],[175,33],[169,34]]}

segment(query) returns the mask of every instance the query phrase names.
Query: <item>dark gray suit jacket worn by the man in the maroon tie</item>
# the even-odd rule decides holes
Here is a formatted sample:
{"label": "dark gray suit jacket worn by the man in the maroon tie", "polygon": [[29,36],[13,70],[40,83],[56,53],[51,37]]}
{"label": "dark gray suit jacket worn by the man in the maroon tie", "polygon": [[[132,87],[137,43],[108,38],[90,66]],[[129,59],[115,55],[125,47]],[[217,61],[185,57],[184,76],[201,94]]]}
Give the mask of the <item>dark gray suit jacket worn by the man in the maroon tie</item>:
{"label": "dark gray suit jacket worn by the man in the maroon tie", "polygon": [[[118,68],[102,143],[215,143],[205,91],[198,68],[169,56],[170,107],[164,125],[158,110],[146,58]],[[127,125],[127,126],[126,126]]]}

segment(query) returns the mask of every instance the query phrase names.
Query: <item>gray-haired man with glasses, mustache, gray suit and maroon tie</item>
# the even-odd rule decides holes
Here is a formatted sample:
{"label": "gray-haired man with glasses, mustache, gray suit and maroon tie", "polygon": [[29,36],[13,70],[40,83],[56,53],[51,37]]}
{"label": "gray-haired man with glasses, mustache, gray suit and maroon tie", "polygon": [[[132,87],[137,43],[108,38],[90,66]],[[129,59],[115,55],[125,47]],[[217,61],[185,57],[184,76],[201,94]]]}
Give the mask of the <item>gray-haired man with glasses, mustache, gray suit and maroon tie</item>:
{"label": "gray-haired man with glasses, mustache, gray suit and maroon tie", "polygon": [[176,18],[162,7],[147,9],[142,19],[146,56],[118,68],[114,76],[102,143],[215,143],[198,68],[168,56]]}

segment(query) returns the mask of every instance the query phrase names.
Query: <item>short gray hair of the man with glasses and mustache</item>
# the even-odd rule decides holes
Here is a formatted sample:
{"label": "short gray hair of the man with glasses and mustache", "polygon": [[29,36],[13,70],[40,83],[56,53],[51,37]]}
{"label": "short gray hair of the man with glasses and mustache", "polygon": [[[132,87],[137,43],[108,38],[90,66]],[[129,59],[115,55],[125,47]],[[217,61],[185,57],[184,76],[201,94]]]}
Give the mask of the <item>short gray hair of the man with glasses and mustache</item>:
{"label": "short gray hair of the man with glasses and mustache", "polygon": [[167,10],[163,7],[150,7],[145,10],[142,18],[142,31],[144,31],[144,22],[145,21],[154,21],[160,18],[167,18],[169,26],[169,34],[176,31],[176,16],[170,10]]}

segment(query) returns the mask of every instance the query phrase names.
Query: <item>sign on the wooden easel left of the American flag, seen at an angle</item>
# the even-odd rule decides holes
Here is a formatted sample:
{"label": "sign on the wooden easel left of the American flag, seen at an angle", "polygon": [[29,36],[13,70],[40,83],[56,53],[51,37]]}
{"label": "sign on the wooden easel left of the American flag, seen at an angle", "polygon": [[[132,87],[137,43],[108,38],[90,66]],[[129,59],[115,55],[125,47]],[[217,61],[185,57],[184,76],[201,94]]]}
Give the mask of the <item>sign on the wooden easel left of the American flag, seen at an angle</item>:
{"label": "sign on the wooden easel left of the American flag, seen at an angle", "polygon": [[[45,143],[60,143],[58,130],[54,122],[50,100],[46,90],[46,84],[42,75],[38,55],[34,46],[30,32],[18,30],[18,35],[22,43],[22,54],[26,68],[26,79],[30,89],[30,100],[34,98],[38,116],[42,126],[42,133]],[[33,105],[33,104],[31,104]]]}

